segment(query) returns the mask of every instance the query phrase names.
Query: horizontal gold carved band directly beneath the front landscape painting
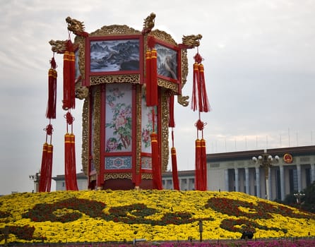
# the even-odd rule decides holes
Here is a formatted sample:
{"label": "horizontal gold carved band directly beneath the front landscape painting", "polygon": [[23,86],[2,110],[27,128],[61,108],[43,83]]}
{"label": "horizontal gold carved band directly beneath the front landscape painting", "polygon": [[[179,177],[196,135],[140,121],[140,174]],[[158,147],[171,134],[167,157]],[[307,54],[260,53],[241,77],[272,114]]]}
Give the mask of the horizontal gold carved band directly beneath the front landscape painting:
{"label": "horizontal gold carved band directly beneath the front landscape painting", "polygon": [[90,85],[100,85],[103,83],[135,83],[135,84],[140,84],[140,74],[90,76]]}

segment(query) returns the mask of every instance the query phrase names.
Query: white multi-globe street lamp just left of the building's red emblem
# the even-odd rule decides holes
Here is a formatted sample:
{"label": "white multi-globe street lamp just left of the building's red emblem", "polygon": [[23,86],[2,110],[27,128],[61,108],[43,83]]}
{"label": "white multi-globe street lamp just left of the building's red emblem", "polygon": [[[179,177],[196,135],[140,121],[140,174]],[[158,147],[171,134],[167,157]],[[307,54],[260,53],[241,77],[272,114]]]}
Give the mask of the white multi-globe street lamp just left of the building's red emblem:
{"label": "white multi-globe street lamp just left of the building's red emblem", "polygon": [[267,153],[267,150],[264,150],[263,154],[258,156],[258,159],[256,157],[252,157],[252,159],[256,164],[259,164],[260,167],[263,167],[263,169],[265,170],[266,199],[270,200],[269,168],[272,167],[273,164],[279,162],[279,156],[275,155],[275,157],[273,158],[271,155]]}

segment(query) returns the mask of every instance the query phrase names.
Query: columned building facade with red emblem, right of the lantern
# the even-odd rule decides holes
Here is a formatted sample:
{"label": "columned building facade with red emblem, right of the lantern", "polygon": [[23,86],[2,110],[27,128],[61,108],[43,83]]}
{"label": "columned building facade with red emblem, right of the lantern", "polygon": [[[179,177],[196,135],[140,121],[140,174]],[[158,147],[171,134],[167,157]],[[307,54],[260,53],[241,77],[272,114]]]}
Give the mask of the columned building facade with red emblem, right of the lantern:
{"label": "columned building facade with red emblem, right of the lantern", "polygon": [[[264,153],[273,157],[267,170],[253,160]],[[239,191],[260,198],[268,194],[271,200],[284,200],[315,181],[315,146],[208,154],[207,171],[209,191]]]}

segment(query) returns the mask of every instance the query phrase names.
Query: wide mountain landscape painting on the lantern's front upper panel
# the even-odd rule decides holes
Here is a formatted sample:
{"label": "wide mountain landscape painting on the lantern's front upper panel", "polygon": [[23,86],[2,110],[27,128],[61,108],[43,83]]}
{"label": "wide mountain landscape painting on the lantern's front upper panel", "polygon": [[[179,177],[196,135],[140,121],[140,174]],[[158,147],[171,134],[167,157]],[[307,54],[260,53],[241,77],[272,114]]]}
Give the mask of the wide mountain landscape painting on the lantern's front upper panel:
{"label": "wide mountain landscape painting on the lantern's front upper panel", "polygon": [[139,40],[90,42],[90,72],[138,71]]}

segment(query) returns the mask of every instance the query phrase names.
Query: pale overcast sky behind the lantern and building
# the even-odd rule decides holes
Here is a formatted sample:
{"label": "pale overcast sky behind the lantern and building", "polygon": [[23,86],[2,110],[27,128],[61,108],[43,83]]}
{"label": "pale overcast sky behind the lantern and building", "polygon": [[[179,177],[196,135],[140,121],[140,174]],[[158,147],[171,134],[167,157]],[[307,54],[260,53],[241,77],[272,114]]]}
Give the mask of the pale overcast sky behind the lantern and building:
{"label": "pale overcast sky behind the lantern and building", "polygon": [[[104,25],[142,30],[143,19],[156,14],[155,28],[182,35],[202,34],[212,112],[207,123],[207,152],[233,152],[315,143],[315,1],[162,0],[162,1],[13,1],[0,0],[0,195],[32,191],[29,175],[40,170],[48,119],[49,40],[66,40],[65,18],[85,24],[86,32]],[[71,36],[74,37],[73,35]],[[189,50],[189,69],[196,50]],[[61,109],[62,56],[53,176],[64,174],[65,112]],[[191,97],[192,76],[183,95]],[[81,170],[81,112],[76,101],[77,171]],[[194,169],[198,113],[177,105],[174,128],[180,170]],[[170,166],[169,166],[170,167]],[[52,189],[55,184],[52,183]]]}

